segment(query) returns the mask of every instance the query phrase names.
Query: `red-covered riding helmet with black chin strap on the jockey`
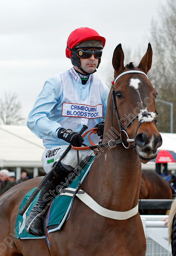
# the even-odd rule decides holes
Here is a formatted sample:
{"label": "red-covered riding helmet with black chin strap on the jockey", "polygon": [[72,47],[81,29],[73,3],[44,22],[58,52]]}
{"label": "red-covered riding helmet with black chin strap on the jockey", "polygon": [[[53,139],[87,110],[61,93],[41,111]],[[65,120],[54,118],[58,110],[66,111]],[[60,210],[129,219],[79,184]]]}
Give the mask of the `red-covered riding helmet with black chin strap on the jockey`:
{"label": "red-covered riding helmet with black chin strap on the jockey", "polygon": [[[105,45],[105,38],[101,37],[97,31],[95,31],[92,28],[88,27],[80,27],[77,28],[76,30],[72,31],[72,33],[69,35],[68,40],[67,40],[67,47],[65,50],[66,57],[71,59],[73,66],[80,66],[80,60],[76,56],[76,53],[72,52],[73,48],[104,48]],[[84,42],[83,44],[81,44]],[[71,53],[73,56],[71,56]],[[101,59],[98,61],[97,68],[100,64]],[[81,69],[79,67],[79,69]],[[84,71],[84,70],[82,70]],[[85,71],[84,71],[85,72]]]}

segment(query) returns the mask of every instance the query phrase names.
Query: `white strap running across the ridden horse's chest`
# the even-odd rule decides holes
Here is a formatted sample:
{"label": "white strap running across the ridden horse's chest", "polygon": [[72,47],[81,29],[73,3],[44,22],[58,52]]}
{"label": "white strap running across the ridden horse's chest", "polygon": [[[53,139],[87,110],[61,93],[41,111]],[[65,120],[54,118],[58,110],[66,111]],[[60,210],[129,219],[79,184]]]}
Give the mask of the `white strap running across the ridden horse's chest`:
{"label": "white strap running across the ridden horse's chest", "polygon": [[[72,190],[72,191],[76,190],[75,188],[72,188],[72,187],[68,187],[67,189]],[[79,191],[83,191],[83,190],[79,190]],[[70,196],[70,197],[73,196],[73,194],[71,194],[69,192],[64,192],[64,193],[60,194],[60,196],[65,196],[65,195]],[[129,219],[138,213],[138,204],[129,211],[117,212],[117,211],[112,211],[112,210],[106,209],[106,208],[102,207],[100,204],[97,204],[97,202],[94,201],[92,199],[92,197],[90,197],[86,192],[84,192],[84,194],[76,194],[76,196],[84,204],[86,204],[88,207],[90,207],[94,212],[97,212],[98,214],[100,214],[104,217],[107,217],[107,218],[123,220],[123,219]]]}

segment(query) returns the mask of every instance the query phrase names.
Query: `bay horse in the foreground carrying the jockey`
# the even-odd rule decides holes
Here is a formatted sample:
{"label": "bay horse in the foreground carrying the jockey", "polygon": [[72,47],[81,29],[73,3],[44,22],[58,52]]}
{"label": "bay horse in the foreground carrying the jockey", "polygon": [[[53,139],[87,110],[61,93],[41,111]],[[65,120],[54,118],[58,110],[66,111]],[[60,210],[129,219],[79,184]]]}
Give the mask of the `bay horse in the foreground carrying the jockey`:
{"label": "bay horse in the foreground carrying the jockey", "polygon": [[[146,239],[138,212],[141,162],[155,158],[162,144],[155,127],[157,92],[146,75],[151,63],[150,44],[137,67],[132,62],[124,66],[121,44],[115,48],[112,59],[114,84],[108,96],[102,141],[107,146],[99,151],[82,184],[82,190],[101,207],[113,213],[120,212],[121,219],[99,215],[76,198],[70,219],[61,230],[49,234],[50,251],[45,239],[15,239],[19,205],[41,178],[28,180],[0,197],[2,255],[145,255]],[[128,217],[123,218],[126,215]],[[5,248],[6,240],[10,246]]]}

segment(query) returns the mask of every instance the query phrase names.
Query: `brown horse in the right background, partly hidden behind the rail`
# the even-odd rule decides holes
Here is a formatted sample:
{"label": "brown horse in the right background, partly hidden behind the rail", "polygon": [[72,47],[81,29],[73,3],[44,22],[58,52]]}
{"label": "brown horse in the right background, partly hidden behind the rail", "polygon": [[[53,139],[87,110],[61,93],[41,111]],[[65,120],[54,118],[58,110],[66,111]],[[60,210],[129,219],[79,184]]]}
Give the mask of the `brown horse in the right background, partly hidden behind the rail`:
{"label": "brown horse in the right background, partly hidden behind the rail", "polygon": [[[172,199],[175,194],[174,188],[158,173],[153,170],[142,170],[141,199]],[[143,209],[143,212],[139,210],[139,213],[142,215],[166,215],[167,209]]]}

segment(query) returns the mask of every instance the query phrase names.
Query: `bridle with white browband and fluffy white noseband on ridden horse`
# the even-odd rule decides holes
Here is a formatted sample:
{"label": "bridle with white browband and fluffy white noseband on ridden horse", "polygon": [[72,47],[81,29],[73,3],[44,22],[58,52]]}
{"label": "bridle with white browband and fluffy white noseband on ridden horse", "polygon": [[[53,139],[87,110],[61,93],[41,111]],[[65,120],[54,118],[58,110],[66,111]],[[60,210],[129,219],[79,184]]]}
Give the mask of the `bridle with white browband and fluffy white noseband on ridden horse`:
{"label": "bridle with white browband and fluffy white noseband on ridden horse", "polygon": [[[117,76],[117,78],[112,82],[111,88],[113,87],[113,85],[117,82],[117,80],[118,80],[121,76],[123,76],[123,75],[125,75],[125,74],[128,74],[128,73],[140,73],[140,74],[143,74],[143,75],[145,75],[145,76],[147,77],[146,73],[144,73],[144,72],[142,72],[142,71],[138,71],[138,70],[129,70],[129,71],[123,72],[123,73],[121,73],[119,76]],[[147,77],[147,79],[148,79],[148,77]],[[111,95],[112,95],[112,113],[113,113],[113,108],[114,108],[114,111],[115,111],[115,114],[116,114],[116,117],[117,117],[117,120],[118,120],[118,124],[119,124],[120,138],[121,138],[121,136],[122,136],[122,132],[124,132],[124,133],[125,133],[125,136],[126,136],[126,138],[127,138],[126,142],[128,143],[128,147],[125,146],[125,144],[124,144],[125,141],[123,141],[122,138],[121,138],[121,140],[122,140],[121,143],[123,144],[123,146],[124,146],[125,148],[129,148],[129,147],[130,147],[130,143],[134,142],[135,140],[134,140],[134,139],[130,139],[130,138],[128,137],[128,134],[127,134],[127,132],[126,132],[126,129],[128,128],[128,126],[130,126],[130,124],[131,124],[136,118],[139,118],[139,116],[140,116],[140,121],[139,121],[139,124],[138,124],[137,129],[136,129],[136,134],[137,134],[137,131],[138,131],[139,126],[141,125],[141,123],[146,122],[146,121],[144,120],[144,118],[150,118],[150,121],[147,121],[147,122],[153,121],[154,125],[156,125],[156,120],[155,120],[155,121],[153,120],[156,114],[154,114],[154,113],[152,112],[152,113],[154,114],[154,115],[152,115],[152,113],[147,112],[147,111],[145,111],[146,109],[144,109],[143,112],[141,111],[139,115],[136,115],[126,126],[123,126],[122,123],[120,122],[119,115],[118,115],[118,110],[117,110],[117,106],[116,106],[116,102],[115,102],[115,91],[114,91],[114,89],[112,89]],[[155,111],[156,111],[156,110],[155,110]],[[157,112],[156,112],[156,113],[157,113]],[[112,119],[112,117],[111,117],[111,119]],[[113,122],[112,122],[112,127],[113,127]],[[135,134],[135,136],[136,136],[136,134]],[[133,145],[132,145],[132,146],[133,146]],[[135,148],[135,146],[133,146],[133,147]]]}

